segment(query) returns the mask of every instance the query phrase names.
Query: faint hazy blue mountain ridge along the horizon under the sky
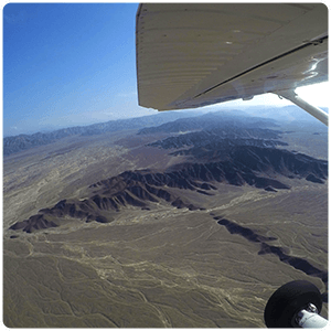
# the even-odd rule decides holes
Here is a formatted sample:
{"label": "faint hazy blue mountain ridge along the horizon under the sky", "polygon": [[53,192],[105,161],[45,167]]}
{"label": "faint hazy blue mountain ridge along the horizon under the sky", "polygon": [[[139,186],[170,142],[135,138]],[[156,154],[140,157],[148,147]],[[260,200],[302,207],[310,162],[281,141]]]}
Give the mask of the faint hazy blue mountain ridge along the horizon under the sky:
{"label": "faint hazy blue mountain ridge along the horizon under the sky", "polygon": [[[275,121],[270,121],[259,117],[250,118],[250,116],[244,114],[245,113],[243,111],[227,110],[207,113],[204,115],[201,115],[201,113],[197,111],[164,111],[159,113],[158,115],[142,116],[130,119],[117,119],[107,122],[94,124],[90,126],[70,127],[51,132],[10,136],[3,138],[3,156],[7,157],[12,153],[29,150],[34,147],[53,143],[63,138],[72,136],[87,137],[106,132],[117,132],[121,130],[139,130],[138,135],[145,135],[143,132],[160,132],[162,131],[162,129],[160,129],[162,125],[164,125],[167,132],[177,131],[177,129],[174,129],[174,127],[177,126],[181,130],[184,130],[184,128],[195,128],[201,130],[206,128],[215,128],[220,125],[224,127],[224,124],[222,121],[225,121],[226,124],[232,122],[232,127],[243,126],[243,124],[247,126],[249,121],[255,126],[276,126]],[[169,128],[171,127],[173,129],[169,131]]]}

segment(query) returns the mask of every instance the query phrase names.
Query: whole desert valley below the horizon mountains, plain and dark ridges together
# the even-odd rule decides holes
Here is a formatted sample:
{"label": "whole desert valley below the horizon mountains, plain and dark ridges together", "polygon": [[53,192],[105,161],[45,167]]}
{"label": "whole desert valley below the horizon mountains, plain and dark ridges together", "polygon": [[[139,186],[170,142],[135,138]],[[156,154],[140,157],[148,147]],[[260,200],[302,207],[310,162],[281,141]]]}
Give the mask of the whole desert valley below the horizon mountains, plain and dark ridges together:
{"label": "whole desert valley below the horizon mountains, plain and dark ridges together", "polygon": [[291,130],[213,114],[6,157],[6,325],[264,328],[293,279],[327,317],[327,135]]}

